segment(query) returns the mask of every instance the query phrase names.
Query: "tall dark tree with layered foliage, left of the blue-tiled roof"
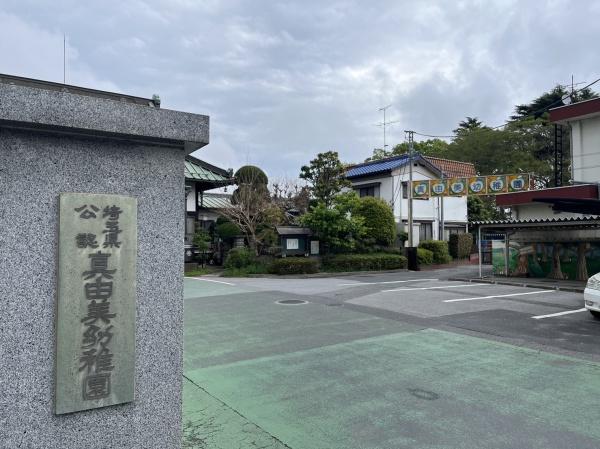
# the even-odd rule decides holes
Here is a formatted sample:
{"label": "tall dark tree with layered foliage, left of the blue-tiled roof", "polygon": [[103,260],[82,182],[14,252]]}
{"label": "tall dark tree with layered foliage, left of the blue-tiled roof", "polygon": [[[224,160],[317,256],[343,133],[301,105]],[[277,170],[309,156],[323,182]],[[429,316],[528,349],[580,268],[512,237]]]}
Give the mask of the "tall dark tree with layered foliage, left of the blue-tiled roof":
{"label": "tall dark tree with layered foliage, left of the blue-tiled roof", "polygon": [[300,169],[300,178],[309,183],[312,197],[329,207],[336,194],[344,187],[351,186],[350,181],[344,177],[345,173],[346,168],[340,162],[338,153],[328,151],[317,154],[309,165],[304,165]]}

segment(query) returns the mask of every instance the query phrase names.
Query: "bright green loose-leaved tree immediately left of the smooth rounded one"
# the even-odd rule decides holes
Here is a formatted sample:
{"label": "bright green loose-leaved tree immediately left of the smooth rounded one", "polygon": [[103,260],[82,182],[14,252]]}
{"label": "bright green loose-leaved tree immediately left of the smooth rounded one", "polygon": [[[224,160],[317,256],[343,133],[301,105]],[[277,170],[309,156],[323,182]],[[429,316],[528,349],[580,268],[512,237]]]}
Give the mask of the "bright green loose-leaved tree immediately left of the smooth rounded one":
{"label": "bright green loose-leaved tree immediately left of the smooth rounded one", "polygon": [[366,233],[364,218],[352,213],[358,203],[356,192],[342,193],[332,199],[331,207],[320,202],[300,221],[319,238],[325,253],[352,251]]}

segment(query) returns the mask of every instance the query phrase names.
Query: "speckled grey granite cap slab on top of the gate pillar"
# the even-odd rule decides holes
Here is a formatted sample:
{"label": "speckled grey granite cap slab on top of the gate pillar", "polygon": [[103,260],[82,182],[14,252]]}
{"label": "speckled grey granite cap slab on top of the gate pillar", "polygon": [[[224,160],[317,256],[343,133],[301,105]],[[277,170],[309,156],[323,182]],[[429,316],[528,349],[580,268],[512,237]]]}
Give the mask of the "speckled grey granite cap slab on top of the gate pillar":
{"label": "speckled grey granite cap slab on top of the gate pillar", "polygon": [[187,153],[208,143],[209,129],[206,115],[10,84],[0,84],[2,123],[169,142]]}

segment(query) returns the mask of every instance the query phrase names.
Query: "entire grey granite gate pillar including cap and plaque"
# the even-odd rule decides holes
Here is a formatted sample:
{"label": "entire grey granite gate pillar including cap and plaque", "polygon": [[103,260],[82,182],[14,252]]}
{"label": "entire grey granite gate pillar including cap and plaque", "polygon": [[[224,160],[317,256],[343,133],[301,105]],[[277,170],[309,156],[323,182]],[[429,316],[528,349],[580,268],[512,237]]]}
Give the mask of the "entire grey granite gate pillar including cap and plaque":
{"label": "entire grey granite gate pillar including cap and plaque", "polygon": [[0,447],[181,446],[184,156],[208,125],[0,75]]}

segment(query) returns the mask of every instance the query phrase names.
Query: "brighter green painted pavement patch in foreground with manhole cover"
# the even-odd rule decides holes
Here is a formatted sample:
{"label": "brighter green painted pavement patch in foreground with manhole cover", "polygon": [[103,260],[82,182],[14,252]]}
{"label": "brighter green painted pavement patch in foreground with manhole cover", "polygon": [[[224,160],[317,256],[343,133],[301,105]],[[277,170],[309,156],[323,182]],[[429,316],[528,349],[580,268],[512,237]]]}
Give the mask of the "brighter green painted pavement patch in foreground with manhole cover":
{"label": "brighter green painted pavement patch in foreground with manhole cover", "polygon": [[[294,449],[599,447],[596,364],[436,330],[189,371]],[[560,446],[562,447],[562,446]]]}

